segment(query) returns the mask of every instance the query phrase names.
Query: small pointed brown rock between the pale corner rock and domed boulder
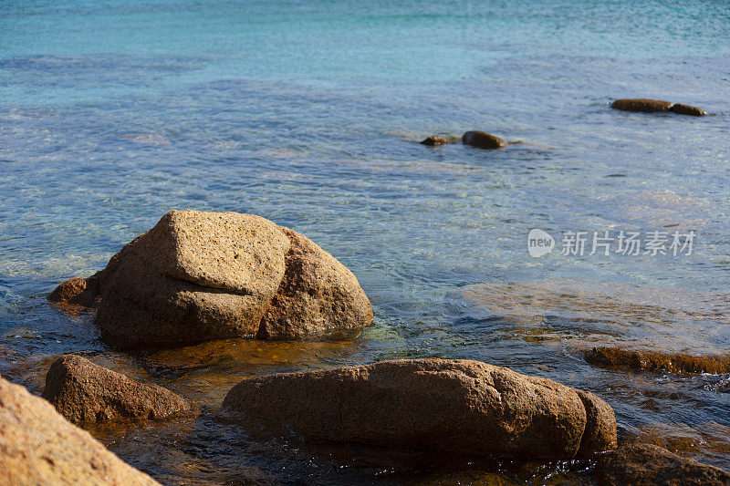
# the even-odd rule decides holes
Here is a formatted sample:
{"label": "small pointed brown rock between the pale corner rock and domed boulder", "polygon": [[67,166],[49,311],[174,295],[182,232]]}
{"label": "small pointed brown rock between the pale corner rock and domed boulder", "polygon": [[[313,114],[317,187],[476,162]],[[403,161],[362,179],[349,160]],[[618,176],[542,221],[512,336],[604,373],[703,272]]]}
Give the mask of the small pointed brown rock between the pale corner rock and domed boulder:
{"label": "small pointed brown rock between the pale corner rock and domed boulder", "polygon": [[74,355],[53,362],[43,398],[78,425],[114,419],[167,419],[189,409],[170,390],[138,383]]}

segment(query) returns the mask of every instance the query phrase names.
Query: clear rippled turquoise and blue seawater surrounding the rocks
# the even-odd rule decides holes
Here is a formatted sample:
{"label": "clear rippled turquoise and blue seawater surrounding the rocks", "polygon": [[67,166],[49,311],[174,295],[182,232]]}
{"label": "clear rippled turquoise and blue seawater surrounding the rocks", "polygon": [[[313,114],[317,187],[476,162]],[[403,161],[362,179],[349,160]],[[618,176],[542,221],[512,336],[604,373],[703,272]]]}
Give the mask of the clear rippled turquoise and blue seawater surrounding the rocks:
{"label": "clear rippled turquoise and blue seawater surrounding the rocks", "polygon": [[[725,377],[611,372],[581,353],[730,344],[729,40],[722,2],[5,2],[0,374],[37,391],[74,351],[193,398],[203,415],[186,428],[97,431],[168,482],[245,468],[282,482],[588,481],[589,464],[253,439],[211,415],[241,377],[391,357],[471,357],[590,389],[622,436],[728,469],[730,394],[712,389]],[[609,109],[632,97],[714,116]],[[467,129],[522,143],[414,143]],[[307,234],[358,276],[375,325],[347,343],[128,357],[89,315],[47,304],[172,208]],[[532,228],[698,236],[691,256],[535,259]]]}

